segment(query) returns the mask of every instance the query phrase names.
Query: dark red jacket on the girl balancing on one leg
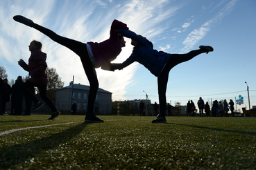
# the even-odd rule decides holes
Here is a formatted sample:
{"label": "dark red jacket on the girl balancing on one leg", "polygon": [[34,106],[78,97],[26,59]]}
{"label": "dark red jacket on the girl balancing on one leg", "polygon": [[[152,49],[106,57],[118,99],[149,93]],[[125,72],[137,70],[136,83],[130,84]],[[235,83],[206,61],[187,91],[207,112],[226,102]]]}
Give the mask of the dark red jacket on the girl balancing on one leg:
{"label": "dark red jacket on the girl balancing on one leg", "polygon": [[126,26],[126,23],[122,23],[121,21],[114,19],[111,25],[109,39],[100,43],[87,42],[92,46],[92,53],[101,66],[105,61],[112,62],[121,53],[121,46],[117,32],[119,29],[128,30],[129,28]]}

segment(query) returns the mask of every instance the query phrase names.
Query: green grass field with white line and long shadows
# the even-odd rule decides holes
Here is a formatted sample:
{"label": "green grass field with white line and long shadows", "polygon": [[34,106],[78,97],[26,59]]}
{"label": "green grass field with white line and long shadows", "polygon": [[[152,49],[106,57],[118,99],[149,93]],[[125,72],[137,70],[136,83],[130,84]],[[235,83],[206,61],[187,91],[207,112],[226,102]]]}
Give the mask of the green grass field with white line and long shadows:
{"label": "green grass field with white line and long shadows", "polygon": [[256,169],[255,117],[84,117],[1,116],[0,169]]}

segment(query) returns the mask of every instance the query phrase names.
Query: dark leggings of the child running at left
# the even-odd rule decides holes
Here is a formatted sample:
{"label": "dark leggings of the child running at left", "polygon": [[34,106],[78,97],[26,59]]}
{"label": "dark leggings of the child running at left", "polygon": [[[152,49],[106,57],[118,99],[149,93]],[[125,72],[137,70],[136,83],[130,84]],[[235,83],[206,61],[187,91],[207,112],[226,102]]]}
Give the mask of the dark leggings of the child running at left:
{"label": "dark leggings of the child running at left", "polygon": [[[36,104],[37,102],[39,102],[39,100],[37,100],[37,97],[35,97],[34,93],[29,90],[31,88],[34,88],[34,84],[28,80],[24,84],[22,84],[21,91],[24,93],[25,96],[31,98],[31,100],[33,101],[34,104]],[[53,102],[51,102],[51,100],[49,99],[49,97],[46,94],[46,87],[38,86],[37,88],[40,92],[40,96],[41,96],[42,100],[44,100],[44,102],[46,102],[47,106],[49,106],[49,108],[51,108],[51,111],[53,113],[56,112],[57,111],[56,107],[53,105]]]}

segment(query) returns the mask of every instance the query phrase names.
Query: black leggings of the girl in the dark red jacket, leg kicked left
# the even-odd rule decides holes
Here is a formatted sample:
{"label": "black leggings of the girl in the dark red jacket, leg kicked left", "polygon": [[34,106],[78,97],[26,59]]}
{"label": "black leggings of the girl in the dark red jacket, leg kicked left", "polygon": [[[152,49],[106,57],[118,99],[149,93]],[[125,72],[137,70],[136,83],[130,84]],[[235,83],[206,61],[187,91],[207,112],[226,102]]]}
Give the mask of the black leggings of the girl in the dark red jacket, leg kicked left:
{"label": "black leggings of the girl in the dark red jacket, leg kicked left", "polygon": [[65,46],[76,53],[83,64],[83,69],[85,70],[85,74],[89,80],[89,97],[88,97],[88,104],[87,104],[87,115],[93,114],[94,111],[94,102],[96,100],[96,94],[99,88],[99,82],[96,75],[96,70],[92,65],[91,60],[89,59],[89,55],[87,52],[86,44],[76,41],[74,39],[68,39],[66,37],[61,37],[57,35],[52,30],[44,28],[36,23],[33,24],[33,28],[39,30],[44,35],[48,36],[53,41],[56,41],[58,44]]}

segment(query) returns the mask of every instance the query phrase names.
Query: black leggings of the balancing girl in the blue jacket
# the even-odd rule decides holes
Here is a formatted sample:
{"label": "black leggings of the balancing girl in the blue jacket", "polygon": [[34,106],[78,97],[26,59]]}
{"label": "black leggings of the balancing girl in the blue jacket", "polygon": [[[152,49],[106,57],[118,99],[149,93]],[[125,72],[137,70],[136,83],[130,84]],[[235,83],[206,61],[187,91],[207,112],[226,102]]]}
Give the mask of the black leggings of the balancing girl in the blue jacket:
{"label": "black leggings of the balancing girl in the blue jacket", "polygon": [[169,72],[171,68],[174,66],[182,63],[187,62],[189,59],[192,59],[196,57],[196,55],[200,55],[201,53],[205,53],[204,49],[200,50],[192,50],[187,54],[171,54],[170,59],[168,60],[166,66],[160,73],[160,75],[157,76],[157,85],[158,85],[158,97],[159,97],[159,104],[160,104],[160,117],[165,117],[165,111],[166,111],[166,103],[167,103],[167,82],[169,77]]}

